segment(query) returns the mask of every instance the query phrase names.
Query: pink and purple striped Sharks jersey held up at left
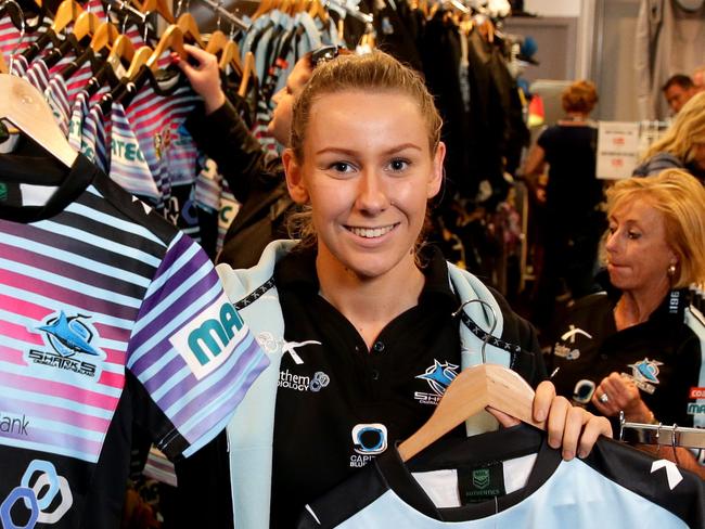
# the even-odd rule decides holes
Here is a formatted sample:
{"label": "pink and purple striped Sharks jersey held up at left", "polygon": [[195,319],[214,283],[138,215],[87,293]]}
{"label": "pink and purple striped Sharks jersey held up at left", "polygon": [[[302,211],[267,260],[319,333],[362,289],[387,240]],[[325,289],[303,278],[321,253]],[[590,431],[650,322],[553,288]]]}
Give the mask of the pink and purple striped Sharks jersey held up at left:
{"label": "pink and purple striped Sharks jersey held up at left", "polygon": [[0,159],[2,527],[117,527],[132,422],[189,456],[268,363],[197,244],[82,155],[65,172]]}

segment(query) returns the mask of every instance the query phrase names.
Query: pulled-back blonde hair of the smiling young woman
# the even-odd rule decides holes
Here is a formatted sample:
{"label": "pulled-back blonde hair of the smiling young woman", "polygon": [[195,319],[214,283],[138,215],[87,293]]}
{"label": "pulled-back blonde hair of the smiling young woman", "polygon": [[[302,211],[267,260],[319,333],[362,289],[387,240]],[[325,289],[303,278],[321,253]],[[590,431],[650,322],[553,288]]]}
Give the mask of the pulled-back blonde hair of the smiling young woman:
{"label": "pulled-back blonde hair of the smiling young woman", "polygon": [[[426,122],[431,153],[438,149],[443,120],[423,78],[392,55],[373,51],[366,55],[338,55],[313,70],[306,87],[296,98],[293,108],[290,145],[298,164],[304,163],[304,143],[313,104],[324,94],[346,90],[409,95],[419,105]],[[425,224],[420,241],[423,241],[428,221]],[[310,246],[316,242],[310,205],[303,206],[290,216],[287,225],[292,236],[302,238],[303,246]],[[418,242],[416,246],[420,244]]]}

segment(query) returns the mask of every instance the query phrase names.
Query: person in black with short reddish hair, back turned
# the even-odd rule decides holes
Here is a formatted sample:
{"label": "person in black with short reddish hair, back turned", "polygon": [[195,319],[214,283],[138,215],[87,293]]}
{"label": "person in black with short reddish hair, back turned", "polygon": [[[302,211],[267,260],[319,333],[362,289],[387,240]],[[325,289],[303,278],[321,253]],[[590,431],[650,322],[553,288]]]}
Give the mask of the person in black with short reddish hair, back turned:
{"label": "person in black with short reddish hair, back turned", "polygon": [[598,93],[589,81],[571,85],[562,98],[566,117],[546,129],[528,155],[524,175],[529,184],[550,165],[543,202],[543,266],[531,321],[546,327],[563,285],[574,298],[593,292],[593,273],[604,214],[602,183],[595,178],[597,128],[588,120]]}

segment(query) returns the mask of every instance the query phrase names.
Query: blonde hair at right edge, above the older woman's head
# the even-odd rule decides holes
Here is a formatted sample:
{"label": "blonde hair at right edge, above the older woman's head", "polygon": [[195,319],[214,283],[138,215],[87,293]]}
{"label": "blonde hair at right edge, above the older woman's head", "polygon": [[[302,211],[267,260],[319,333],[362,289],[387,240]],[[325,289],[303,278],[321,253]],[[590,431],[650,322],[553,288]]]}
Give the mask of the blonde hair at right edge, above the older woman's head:
{"label": "blonde hair at right edge, above the older woman's head", "polygon": [[705,92],[693,95],[683,105],[664,137],[649,147],[642,160],[666,152],[688,164],[695,155],[696,143],[705,143]]}

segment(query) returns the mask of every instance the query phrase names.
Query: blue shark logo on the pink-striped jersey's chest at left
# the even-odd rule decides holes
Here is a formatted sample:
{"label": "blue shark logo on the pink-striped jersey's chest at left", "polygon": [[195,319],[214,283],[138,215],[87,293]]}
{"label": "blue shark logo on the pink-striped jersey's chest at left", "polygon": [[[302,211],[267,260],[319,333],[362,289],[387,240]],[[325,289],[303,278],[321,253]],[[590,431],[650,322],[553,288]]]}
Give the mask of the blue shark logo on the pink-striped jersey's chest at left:
{"label": "blue shark logo on the pink-striped jersey's chest at left", "polygon": [[47,318],[36,330],[43,333],[44,344],[53,351],[30,349],[25,356],[27,363],[97,379],[100,370],[95,361],[105,360],[106,354],[92,344],[98,333],[86,321],[89,318],[82,314],[67,317],[63,310]]}

